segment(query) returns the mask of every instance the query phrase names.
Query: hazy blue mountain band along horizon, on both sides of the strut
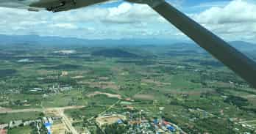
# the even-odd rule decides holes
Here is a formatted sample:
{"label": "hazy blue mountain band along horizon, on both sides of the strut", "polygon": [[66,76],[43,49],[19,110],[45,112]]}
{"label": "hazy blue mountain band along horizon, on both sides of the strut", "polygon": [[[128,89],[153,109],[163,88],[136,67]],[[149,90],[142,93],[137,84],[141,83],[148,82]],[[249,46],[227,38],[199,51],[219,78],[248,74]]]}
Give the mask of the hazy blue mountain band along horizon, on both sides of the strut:
{"label": "hazy blue mountain band along horizon, on both sides of the strut", "polygon": [[[177,45],[179,48],[199,48],[193,42],[159,39],[120,39],[120,40],[85,40],[74,37],[40,37],[38,35],[0,34],[0,45]],[[256,51],[256,44],[243,41],[230,42],[240,51]]]}

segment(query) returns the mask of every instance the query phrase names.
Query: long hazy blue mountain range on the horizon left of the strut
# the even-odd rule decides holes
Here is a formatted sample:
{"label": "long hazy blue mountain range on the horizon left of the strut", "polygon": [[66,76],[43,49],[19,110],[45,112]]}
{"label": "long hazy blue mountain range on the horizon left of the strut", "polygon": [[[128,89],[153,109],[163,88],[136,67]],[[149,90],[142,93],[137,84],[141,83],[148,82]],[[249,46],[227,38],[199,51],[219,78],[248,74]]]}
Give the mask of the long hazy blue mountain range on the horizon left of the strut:
{"label": "long hazy blue mountain range on the horizon left of the strut", "polygon": [[0,45],[167,45],[174,40],[120,39],[86,40],[74,37],[41,37],[38,35],[0,34]]}

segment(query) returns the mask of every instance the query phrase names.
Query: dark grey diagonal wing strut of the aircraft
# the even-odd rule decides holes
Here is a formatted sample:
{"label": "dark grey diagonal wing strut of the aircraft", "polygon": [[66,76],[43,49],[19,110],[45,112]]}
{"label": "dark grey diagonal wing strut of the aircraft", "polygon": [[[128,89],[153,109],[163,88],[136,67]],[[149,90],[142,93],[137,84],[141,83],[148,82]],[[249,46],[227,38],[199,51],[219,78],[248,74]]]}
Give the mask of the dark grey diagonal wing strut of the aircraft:
{"label": "dark grey diagonal wing strut of the aircraft", "polygon": [[145,3],[256,89],[256,63],[252,59],[166,1],[146,0]]}

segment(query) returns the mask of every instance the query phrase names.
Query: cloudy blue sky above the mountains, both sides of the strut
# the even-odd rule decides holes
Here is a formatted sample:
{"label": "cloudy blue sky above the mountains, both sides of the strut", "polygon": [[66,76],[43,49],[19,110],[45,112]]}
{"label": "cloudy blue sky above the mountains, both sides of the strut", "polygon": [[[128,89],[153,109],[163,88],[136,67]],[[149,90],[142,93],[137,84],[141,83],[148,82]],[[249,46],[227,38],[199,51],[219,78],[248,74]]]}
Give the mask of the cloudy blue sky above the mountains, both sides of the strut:
{"label": "cloudy blue sky above the mountains, both sides of the strut", "polygon": [[[124,38],[189,40],[144,4],[115,1],[56,13],[1,7],[4,4],[17,4],[12,1],[17,0],[0,0],[2,18],[0,34],[36,34],[100,40]],[[168,2],[224,40],[256,42],[255,0],[168,0]]]}

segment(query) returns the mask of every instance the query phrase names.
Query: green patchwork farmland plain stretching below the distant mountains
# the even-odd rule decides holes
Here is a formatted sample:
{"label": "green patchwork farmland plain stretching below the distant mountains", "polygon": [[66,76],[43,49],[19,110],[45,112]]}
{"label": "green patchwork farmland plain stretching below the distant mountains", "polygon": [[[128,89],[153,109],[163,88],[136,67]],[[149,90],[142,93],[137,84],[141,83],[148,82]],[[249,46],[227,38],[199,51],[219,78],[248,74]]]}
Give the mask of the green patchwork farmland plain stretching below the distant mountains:
{"label": "green patchwork farmland plain stretching below the distant mountains", "polygon": [[[65,111],[82,121],[128,99],[135,108],[150,116],[165,116],[187,133],[215,133],[218,129],[216,133],[230,133],[230,118],[256,119],[256,90],[194,45],[18,45],[0,50],[0,106],[4,108],[84,105]],[[62,50],[76,53],[56,53]],[[122,106],[117,104],[109,111],[124,112]],[[159,107],[164,107],[162,113]],[[202,119],[189,112],[197,108],[218,118]],[[0,122],[38,117],[36,112],[7,113],[0,114]]]}

